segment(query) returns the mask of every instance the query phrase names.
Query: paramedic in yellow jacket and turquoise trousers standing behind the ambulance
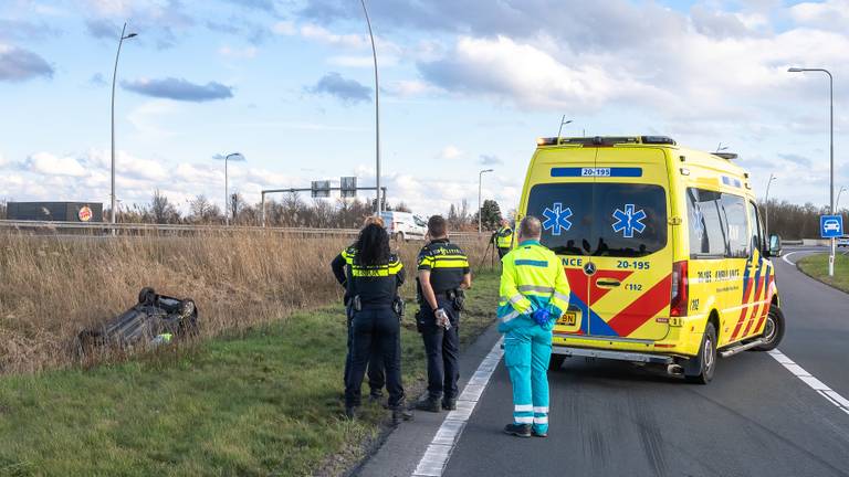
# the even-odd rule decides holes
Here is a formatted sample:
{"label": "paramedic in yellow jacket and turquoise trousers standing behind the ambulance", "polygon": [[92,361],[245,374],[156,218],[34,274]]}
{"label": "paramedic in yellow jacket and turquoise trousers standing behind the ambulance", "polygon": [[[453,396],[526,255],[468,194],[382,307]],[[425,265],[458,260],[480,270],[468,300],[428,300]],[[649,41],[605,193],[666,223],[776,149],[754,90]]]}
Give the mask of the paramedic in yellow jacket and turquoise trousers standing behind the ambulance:
{"label": "paramedic in yellow jacket and turquoise trousers standing behind the ambulance", "polygon": [[499,331],[513,384],[513,422],[504,432],[548,435],[548,362],[554,322],[569,306],[569,283],[557,255],[539,244],[539,219],[522,220],[518,246],[502,261]]}

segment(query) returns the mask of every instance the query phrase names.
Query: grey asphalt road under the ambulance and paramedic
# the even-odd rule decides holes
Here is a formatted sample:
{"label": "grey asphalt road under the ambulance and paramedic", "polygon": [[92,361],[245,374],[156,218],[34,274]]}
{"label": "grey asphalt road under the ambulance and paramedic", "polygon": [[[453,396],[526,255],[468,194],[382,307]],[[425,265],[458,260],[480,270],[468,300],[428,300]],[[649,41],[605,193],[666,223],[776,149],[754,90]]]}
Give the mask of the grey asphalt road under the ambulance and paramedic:
{"label": "grey asphalt road under the ambulance and paramedic", "polygon": [[[814,251],[788,250],[787,258]],[[779,350],[849,399],[849,295],[784,259],[773,262],[787,318]],[[709,385],[630,363],[583,359],[567,360],[551,372],[549,383],[549,437],[504,435],[513,404],[500,364],[443,475],[849,476],[849,413],[768,353],[721,360]],[[401,431],[429,437],[375,459],[410,463],[366,467],[361,475],[410,475],[424,452],[421,441],[433,432]]]}

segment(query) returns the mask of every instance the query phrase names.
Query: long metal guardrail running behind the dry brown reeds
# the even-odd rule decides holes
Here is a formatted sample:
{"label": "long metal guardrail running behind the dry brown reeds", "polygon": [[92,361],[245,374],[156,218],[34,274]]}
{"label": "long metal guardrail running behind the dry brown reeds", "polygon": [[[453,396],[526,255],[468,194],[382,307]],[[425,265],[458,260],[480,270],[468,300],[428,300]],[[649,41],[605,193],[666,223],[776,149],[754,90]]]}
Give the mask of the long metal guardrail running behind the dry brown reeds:
{"label": "long metal guardrail running behind the dry brown reeds", "polygon": [[[192,234],[205,232],[233,233],[282,233],[292,235],[324,235],[324,236],[356,236],[357,229],[316,229],[316,227],[262,227],[259,225],[191,225],[191,224],[150,224],[150,223],[105,223],[105,222],[59,222],[59,221],[12,221],[0,220],[0,230],[22,231],[34,233],[62,233],[88,231],[93,234],[134,235],[144,233]],[[452,237],[460,240],[489,239],[490,233],[484,232],[454,232]]]}

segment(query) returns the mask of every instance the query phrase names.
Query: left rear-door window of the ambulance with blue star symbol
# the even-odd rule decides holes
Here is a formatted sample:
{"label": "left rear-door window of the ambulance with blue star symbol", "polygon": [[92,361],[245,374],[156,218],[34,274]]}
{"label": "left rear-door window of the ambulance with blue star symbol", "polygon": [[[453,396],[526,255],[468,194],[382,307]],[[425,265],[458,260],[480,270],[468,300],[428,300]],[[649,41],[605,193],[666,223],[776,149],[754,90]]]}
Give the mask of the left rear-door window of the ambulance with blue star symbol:
{"label": "left rear-door window of the ambulance with blue star symbol", "polygon": [[591,252],[593,188],[593,183],[559,183],[531,189],[526,214],[543,222],[543,245],[560,255]]}

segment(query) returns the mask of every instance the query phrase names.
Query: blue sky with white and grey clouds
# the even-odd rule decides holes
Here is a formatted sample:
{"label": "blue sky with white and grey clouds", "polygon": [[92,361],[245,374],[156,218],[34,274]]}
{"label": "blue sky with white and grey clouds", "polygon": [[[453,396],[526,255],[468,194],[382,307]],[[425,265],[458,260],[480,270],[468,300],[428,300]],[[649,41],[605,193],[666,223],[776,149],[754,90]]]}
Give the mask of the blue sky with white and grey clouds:
{"label": "blue sky with white and grey clouds", "polygon": [[[515,209],[535,140],[664,135],[740,155],[763,195],[849,186],[849,0],[367,0],[390,203]],[[357,0],[2,0],[0,199],[109,202],[159,189],[184,211],[230,190],[375,183],[371,46]],[[361,192],[373,197],[374,192]],[[849,200],[847,197],[846,200]],[[841,199],[842,202],[842,199]]]}

